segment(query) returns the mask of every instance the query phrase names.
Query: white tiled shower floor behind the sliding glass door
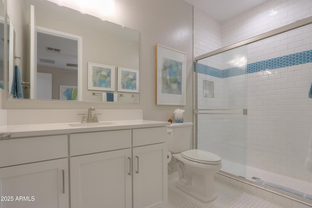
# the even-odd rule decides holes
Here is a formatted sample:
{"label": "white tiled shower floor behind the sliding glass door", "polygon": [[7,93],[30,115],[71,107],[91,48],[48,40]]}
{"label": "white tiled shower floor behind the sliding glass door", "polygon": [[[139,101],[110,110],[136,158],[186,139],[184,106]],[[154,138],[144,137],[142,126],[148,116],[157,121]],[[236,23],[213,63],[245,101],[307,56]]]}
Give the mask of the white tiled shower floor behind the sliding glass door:
{"label": "white tiled shower floor behind the sliding glass door", "polygon": [[283,187],[291,188],[312,195],[312,183],[295,179],[289,176],[257,169],[251,166],[244,166],[242,164],[234,163],[225,159],[222,159],[221,170],[237,176],[245,177],[250,181],[255,181],[252,177],[257,177],[266,182],[274,183]]}

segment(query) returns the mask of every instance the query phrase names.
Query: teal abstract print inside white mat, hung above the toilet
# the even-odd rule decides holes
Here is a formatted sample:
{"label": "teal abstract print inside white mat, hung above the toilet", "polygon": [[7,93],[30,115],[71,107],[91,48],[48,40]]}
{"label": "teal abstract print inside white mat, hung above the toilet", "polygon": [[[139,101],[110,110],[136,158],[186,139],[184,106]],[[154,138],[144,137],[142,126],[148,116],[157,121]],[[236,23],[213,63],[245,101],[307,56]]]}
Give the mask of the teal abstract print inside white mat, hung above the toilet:
{"label": "teal abstract print inside white mat, hung above the toilet", "polygon": [[162,58],[161,93],[182,95],[182,62]]}

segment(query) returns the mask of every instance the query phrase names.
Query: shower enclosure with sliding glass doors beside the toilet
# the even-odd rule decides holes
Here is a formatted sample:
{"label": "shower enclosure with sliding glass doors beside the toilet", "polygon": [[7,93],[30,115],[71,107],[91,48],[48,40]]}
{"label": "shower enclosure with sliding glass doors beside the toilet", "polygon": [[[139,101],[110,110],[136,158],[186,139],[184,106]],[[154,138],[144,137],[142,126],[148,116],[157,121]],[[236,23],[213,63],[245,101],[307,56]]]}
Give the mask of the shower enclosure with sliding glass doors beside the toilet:
{"label": "shower enclosure with sliding glass doors beside the toilet", "polygon": [[195,148],[225,174],[312,202],[312,18],[196,57]]}

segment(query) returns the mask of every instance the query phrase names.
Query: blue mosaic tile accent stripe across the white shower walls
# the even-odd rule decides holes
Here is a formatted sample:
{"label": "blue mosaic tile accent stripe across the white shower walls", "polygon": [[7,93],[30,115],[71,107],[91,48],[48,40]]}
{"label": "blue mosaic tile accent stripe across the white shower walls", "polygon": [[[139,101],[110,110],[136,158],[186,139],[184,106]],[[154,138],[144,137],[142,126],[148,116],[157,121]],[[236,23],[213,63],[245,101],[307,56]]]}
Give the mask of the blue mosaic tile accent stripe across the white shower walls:
{"label": "blue mosaic tile accent stripe across the white shower walls", "polygon": [[[282,67],[288,67],[310,62],[312,62],[312,50],[250,63],[247,64],[247,70],[244,67],[234,67],[220,70],[214,67],[198,64],[198,73],[215,76],[218,78],[226,78],[231,76],[244,75],[246,73],[250,74],[264,70],[278,69]],[[195,72],[195,63],[194,63],[194,72]]]}

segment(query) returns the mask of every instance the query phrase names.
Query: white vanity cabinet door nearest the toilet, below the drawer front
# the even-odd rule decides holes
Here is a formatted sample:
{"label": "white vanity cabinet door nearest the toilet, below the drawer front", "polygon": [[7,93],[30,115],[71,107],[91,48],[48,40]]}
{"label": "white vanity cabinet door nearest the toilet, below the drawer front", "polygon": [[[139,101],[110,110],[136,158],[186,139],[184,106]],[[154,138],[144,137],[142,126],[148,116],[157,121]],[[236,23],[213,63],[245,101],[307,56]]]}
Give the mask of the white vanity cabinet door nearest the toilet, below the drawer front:
{"label": "white vanity cabinet door nearest the toilet, below the drawer front", "polygon": [[134,208],[167,207],[167,165],[167,143],[133,148]]}

